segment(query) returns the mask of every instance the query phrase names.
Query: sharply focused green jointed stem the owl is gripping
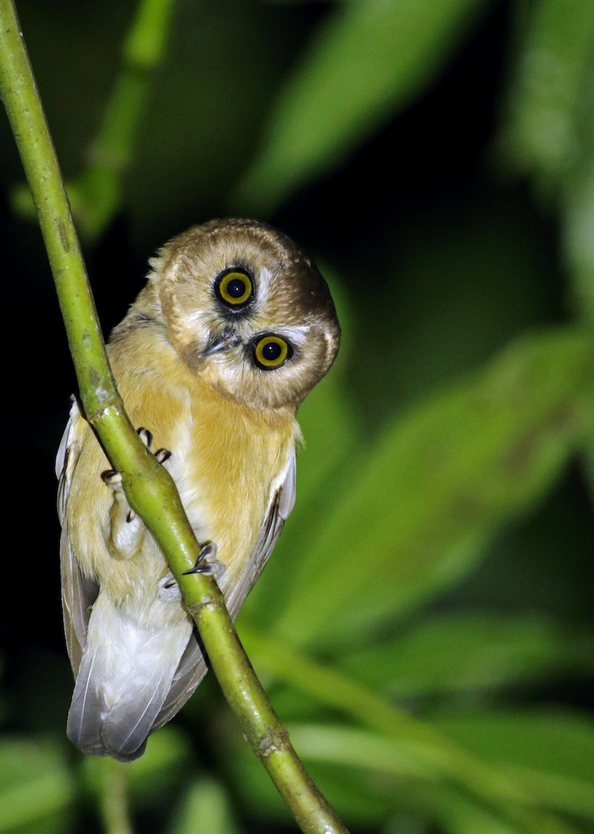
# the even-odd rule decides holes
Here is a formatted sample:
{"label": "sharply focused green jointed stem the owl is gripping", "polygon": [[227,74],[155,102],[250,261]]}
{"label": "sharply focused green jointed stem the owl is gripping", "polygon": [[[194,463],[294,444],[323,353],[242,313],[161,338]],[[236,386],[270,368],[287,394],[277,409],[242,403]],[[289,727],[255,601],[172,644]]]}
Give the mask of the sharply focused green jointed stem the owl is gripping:
{"label": "sharply focused green jointed stem the owl is gripping", "polygon": [[48,251],[84,413],[130,505],[153,533],[194,617],[214,672],[254,752],[306,834],[345,832],[305,772],[245,656],[212,577],[184,575],[200,545],[174,481],[138,439],[113,382],[78,237],[12,0],[0,0],[0,93]]}

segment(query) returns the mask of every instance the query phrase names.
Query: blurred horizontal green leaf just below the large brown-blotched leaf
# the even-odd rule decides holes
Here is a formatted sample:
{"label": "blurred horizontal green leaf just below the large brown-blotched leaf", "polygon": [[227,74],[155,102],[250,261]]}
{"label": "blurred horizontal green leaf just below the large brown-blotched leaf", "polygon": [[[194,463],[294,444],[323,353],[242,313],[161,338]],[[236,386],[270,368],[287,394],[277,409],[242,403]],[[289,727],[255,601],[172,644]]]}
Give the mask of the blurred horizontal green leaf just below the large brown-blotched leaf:
{"label": "blurred horizontal green leaf just below the large brown-blotched leaf", "polygon": [[394,698],[594,674],[594,635],[538,615],[456,613],[423,620],[340,666]]}

